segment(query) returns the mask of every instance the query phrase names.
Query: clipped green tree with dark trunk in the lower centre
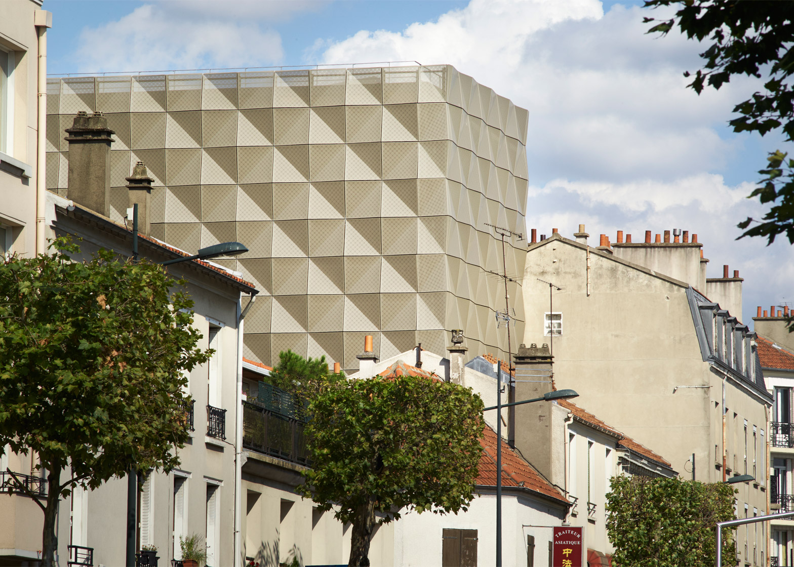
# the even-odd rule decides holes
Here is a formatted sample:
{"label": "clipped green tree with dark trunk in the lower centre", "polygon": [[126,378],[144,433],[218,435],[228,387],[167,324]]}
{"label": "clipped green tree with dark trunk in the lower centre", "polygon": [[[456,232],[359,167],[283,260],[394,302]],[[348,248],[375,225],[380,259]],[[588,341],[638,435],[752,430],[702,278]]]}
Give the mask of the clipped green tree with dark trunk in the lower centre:
{"label": "clipped green tree with dark trunk in the lower centre", "polygon": [[353,524],[348,565],[369,565],[376,525],[403,508],[467,510],[484,427],[471,389],[421,376],[345,380],[321,388],[309,409],[312,462],[298,490]]}

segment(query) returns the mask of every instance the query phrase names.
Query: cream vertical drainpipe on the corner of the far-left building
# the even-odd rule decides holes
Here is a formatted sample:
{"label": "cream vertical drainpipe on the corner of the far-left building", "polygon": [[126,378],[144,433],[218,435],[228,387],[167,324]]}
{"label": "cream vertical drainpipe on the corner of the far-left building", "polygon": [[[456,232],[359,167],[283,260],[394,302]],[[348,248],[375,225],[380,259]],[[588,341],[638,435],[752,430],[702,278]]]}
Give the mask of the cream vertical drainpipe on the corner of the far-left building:
{"label": "cream vertical drainpipe on the corner of the far-left building", "polygon": [[36,253],[43,254],[44,240],[44,192],[47,191],[47,28],[52,28],[52,13],[36,10],[33,24],[38,36],[38,79],[36,125]]}

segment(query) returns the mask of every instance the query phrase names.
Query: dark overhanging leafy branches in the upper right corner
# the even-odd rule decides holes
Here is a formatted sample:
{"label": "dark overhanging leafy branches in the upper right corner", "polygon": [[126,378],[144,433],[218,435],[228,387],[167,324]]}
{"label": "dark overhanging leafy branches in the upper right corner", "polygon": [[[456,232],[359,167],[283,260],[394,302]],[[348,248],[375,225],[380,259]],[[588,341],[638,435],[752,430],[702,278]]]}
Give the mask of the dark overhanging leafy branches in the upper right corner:
{"label": "dark overhanging leafy branches in the upper right corner", "polygon": [[[794,2],[747,2],[747,0],[646,0],[646,7],[677,6],[675,17],[654,22],[648,33],[667,34],[676,26],[689,39],[710,41],[700,54],[703,68],[696,71],[689,87],[698,94],[705,87],[719,89],[734,75],[765,79],[764,90],[734,106],[738,116],[728,122],[734,132],[779,131],[794,141]],[[691,76],[687,71],[685,76]],[[750,198],[772,203],[770,210],[753,224],[747,218],[738,227],[742,237],[766,237],[771,244],[785,233],[794,244],[794,178],[791,160],[784,162],[780,150],[771,152],[769,164],[761,168],[760,187]],[[786,164],[788,175],[783,175]]]}

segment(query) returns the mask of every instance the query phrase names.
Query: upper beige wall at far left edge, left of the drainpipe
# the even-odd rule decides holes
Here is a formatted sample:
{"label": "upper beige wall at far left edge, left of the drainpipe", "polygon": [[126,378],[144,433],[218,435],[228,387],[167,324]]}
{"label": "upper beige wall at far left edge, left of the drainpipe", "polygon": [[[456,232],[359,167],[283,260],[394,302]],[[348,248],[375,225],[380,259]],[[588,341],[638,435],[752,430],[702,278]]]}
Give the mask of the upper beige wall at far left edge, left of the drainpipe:
{"label": "upper beige wall at far left edge, left of the drainpipe", "polygon": [[22,178],[0,169],[0,223],[13,230],[13,250],[33,255],[36,245],[37,33],[35,0],[0,2],[0,46],[13,52],[13,145],[6,154],[32,167]]}

